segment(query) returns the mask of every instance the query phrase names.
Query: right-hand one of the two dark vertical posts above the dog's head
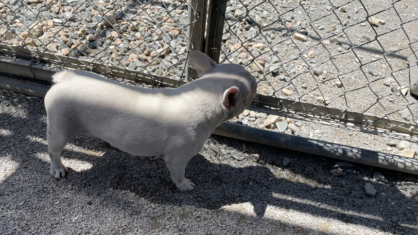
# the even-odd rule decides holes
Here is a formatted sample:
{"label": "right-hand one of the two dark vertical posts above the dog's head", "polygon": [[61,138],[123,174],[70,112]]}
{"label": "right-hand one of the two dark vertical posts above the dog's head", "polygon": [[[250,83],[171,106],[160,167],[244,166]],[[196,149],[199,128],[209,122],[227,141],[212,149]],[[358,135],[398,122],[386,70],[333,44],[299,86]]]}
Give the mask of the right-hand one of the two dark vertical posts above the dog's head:
{"label": "right-hand one of the two dark vertical posts above the dog's head", "polygon": [[209,13],[207,19],[205,54],[219,62],[221,53],[223,24],[225,23],[225,12],[227,12],[228,0],[212,0],[209,2]]}

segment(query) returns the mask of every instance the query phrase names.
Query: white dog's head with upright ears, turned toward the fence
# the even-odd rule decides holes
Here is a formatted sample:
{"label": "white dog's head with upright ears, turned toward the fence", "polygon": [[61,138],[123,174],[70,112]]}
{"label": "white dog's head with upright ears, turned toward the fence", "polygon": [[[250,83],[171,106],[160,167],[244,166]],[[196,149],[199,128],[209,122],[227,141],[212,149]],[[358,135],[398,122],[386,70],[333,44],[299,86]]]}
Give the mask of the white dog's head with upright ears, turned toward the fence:
{"label": "white dog's head with upright ears, turned toward the fence", "polygon": [[216,80],[222,89],[219,102],[229,111],[229,118],[242,113],[257,93],[255,77],[242,65],[217,64],[199,51],[189,53],[188,64],[198,72],[199,78]]}

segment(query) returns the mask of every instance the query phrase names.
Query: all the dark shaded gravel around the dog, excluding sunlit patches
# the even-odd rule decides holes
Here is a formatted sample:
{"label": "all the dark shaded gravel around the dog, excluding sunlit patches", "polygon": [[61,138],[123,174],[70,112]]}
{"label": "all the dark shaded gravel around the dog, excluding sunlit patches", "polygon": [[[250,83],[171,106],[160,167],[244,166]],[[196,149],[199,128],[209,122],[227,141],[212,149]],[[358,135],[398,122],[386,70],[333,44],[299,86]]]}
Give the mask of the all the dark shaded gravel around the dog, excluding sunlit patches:
{"label": "all the dark shaded gravel around the dog, excluding sunlit patches", "polygon": [[[321,159],[319,156],[250,142],[245,142],[248,152],[259,153],[262,158],[256,164],[247,155],[247,159],[240,163],[225,156],[225,152],[239,150],[243,141],[218,136],[207,140],[201,153],[191,159],[187,166],[186,177],[196,184],[195,190],[191,192],[182,193],[177,190],[162,158],[134,157],[116,149],[107,149],[103,141],[89,136],[76,137],[71,143],[106,153],[94,157],[64,150],[62,156],[66,159],[69,174],[65,179],[56,180],[49,175],[49,162],[37,156],[47,155],[46,145],[33,141],[33,137],[45,139],[46,114],[43,100],[8,93],[9,97],[0,97],[7,98],[15,110],[13,113],[18,115],[0,113],[1,128],[12,133],[7,137],[0,135],[0,157],[10,156],[11,160],[18,162],[18,167],[0,182],[0,198],[8,198],[5,200],[7,202],[13,198],[14,202],[26,203],[17,207],[1,200],[1,216],[8,216],[8,210],[33,213],[34,209],[30,207],[39,202],[33,201],[31,195],[48,194],[59,188],[68,191],[68,194],[90,198],[90,204],[84,206],[92,205],[92,209],[86,210],[93,210],[94,205],[100,205],[96,208],[99,211],[105,207],[124,211],[130,216],[141,214],[144,207],[139,199],[145,198],[159,207],[190,205],[214,214],[227,214],[231,218],[238,216],[242,226],[274,224],[281,232],[292,227],[299,229],[300,234],[332,234],[320,225],[318,228],[299,226],[304,224],[303,221],[288,224],[277,215],[274,216],[277,220],[271,220],[269,218],[272,216],[267,216],[269,207],[370,228],[379,226],[379,229],[387,232],[414,233],[418,210],[412,198],[418,196],[418,192],[415,195],[405,195],[402,188],[416,184],[416,176],[355,165],[354,168],[344,168],[343,176],[335,177],[328,173],[335,162],[333,159]],[[292,159],[286,167],[282,164],[283,157]],[[74,171],[71,169],[73,160],[89,162],[92,168]],[[370,180],[373,171],[379,170],[386,176],[387,184]],[[29,186],[22,180],[25,177],[38,179],[39,190],[29,194]],[[376,196],[365,196],[365,182],[375,186]],[[134,193],[137,201],[124,197],[123,192]],[[62,209],[72,213],[73,203],[61,204],[64,207]],[[239,212],[228,210],[229,205],[246,203],[252,207],[242,207]],[[45,220],[55,220],[54,212],[46,212],[44,208],[34,211],[43,214]],[[199,221],[199,216],[195,217],[193,212],[187,212],[184,216],[182,219],[196,223]],[[7,221],[1,223],[9,223]]]}

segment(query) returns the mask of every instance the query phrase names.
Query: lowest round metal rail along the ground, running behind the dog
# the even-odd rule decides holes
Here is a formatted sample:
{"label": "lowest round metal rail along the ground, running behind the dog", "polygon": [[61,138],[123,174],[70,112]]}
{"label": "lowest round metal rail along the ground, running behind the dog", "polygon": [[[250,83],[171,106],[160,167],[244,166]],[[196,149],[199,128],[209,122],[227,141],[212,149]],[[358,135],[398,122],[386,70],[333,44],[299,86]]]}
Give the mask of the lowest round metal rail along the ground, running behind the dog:
{"label": "lowest round metal rail along the ground, running behind the dog", "polygon": [[[0,88],[39,97],[45,97],[49,89],[48,86],[38,83],[19,81],[5,77],[0,77]],[[213,134],[293,151],[353,161],[359,164],[418,174],[418,159],[353,148],[343,144],[260,130],[228,122],[219,125]]]}

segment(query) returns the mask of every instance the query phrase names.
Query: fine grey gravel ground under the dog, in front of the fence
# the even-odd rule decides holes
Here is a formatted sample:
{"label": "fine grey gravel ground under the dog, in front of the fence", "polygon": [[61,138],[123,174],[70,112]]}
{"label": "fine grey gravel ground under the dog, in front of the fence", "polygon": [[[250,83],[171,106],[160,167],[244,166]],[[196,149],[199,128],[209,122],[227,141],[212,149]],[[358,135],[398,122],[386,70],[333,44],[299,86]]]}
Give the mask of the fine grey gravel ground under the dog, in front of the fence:
{"label": "fine grey gravel ground under the dog, in front of the fence", "polygon": [[[353,164],[334,176],[334,159],[212,136],[186,169],[196,189],[181,193],[163,159],[78,136],[62,153],[69,174],[56,180],[43,99],[0,90],[0,123],[2,234],[418,233],[414,175]],[[245,159],[232,158],[243,144]]]}

